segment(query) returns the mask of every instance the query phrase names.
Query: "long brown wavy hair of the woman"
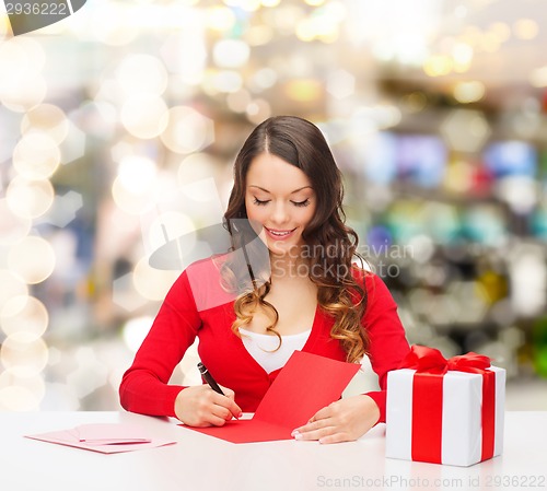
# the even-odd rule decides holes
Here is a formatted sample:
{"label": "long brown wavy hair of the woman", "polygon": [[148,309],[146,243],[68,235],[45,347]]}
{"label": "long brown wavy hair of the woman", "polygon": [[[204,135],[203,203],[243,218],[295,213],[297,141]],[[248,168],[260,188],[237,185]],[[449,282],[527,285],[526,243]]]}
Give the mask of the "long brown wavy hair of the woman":
{"label": "long brown wavy hair of the woman", "polygon": [[[369,337],[361,326],[361,317],[366,308],[366,291],[361,281],[357,281],[352,271],[354,257],[363,258],[357,253],[358,236],[346,225],[342,209],[344,186],[341,173],[336,165],[333,153],[321,132],[312,122],[295,116],[271,117],[258,125],[240,150],[234,163],[234,185],[230,195],[224,225],[232,237],[233,249],[245,247],[245,260],[252,278],[252,288],[241,288],[234,303],[236,319],[232,330],[237,336],[240,327],[248,324],[258,305],[265,307],[270,318],[267,330],[276,335],[281,343],[281,336],[276,331],[279,315],[275,306],[265,297],[270,290],[270,281],[260,272],[251,271],[248,256],[260,254],[260,241],[253,241],[254,231],[251,225],[242,226],[245,220],[246,176],[253,160],[263,152],[274,154],[300,168],[310,179],[316,194],[316,210],[311,222],[303,231],[302,237],[309,252],[309,277],[317,285],[317,303],[330,315],[334,326],[330,337],[338,339],[349,362],[358,362],[369,348]],[[256,236],[256,233],[254,234]],[[248,247],[252,242],[253,247]],[[362,264],[362,262],[361,262]],[[245,268],[233,268],[244,271]],[[234,273],[233,278],[238,274]],[[240,274],[241,276],[241,274]],[[364,271],[359,274],[364,283]],[[244,282],[235,280],[241,287]],[[248,282],[247,282],[248,285]]]}

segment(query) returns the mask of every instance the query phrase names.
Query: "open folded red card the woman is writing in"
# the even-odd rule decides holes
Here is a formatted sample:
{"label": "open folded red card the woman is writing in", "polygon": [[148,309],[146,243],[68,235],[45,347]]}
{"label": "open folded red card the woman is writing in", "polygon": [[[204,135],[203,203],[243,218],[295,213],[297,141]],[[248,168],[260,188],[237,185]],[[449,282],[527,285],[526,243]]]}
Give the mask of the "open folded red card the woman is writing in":
{"label": "open folded red card the woman is writing in", "polygon": [[294,351],[251,420],[223,426],[193,428],[232,443],[292,440],[291,432],[319,409],[340,398],[361,365]]}

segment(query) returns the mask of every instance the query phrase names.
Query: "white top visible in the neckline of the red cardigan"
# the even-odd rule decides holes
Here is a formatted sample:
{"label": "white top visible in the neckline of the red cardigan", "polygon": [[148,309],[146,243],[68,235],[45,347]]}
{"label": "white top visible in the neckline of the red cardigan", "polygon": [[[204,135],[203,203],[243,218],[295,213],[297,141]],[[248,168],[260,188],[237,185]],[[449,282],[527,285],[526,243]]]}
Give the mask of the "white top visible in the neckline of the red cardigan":
{"label": "white top visible in the neckline of the red cardigan", "polygon": [[[281,346],[279,346],[277,336],[261,335],[241,327],[240,332],[243,344],[249,354],[267,373],[271,373],[284,366],[295,350],[304,348],[312,329],[295,335],[281,336]],[[279,349],[277,349],[278,347]]]}

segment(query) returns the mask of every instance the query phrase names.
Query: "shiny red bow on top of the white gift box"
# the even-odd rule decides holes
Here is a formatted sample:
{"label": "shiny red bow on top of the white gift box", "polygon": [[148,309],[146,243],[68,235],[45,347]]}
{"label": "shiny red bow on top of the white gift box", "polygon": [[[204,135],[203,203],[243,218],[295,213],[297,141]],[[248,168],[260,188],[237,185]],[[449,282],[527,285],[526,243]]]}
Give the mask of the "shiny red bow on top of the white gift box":
{"label": "shiny red bow on top of the white gift box", "polygon": [[449,370],[482,373],[489,366],[490,358],[473,351],[446,360],[435,348],[412,344],[399,369],[412,369],[420,373],[444,374]]}

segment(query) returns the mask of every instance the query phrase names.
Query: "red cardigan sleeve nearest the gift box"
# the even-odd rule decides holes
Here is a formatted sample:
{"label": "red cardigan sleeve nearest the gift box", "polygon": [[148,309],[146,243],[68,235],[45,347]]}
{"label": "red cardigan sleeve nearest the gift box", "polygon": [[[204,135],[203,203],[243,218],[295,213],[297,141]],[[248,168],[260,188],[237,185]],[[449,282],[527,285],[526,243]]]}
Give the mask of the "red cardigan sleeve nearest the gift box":
{"label": "red cardigan sleeve nearest the gift box", "polygon": [[397,304],[380,277],[365,273],[366,309],[362,324],[369,334],[369,358],[379,376],[380,390],[366,393],[380,408],[380,422],[385,422],[387,372],[396,370],[410,350],[397,314]]}

